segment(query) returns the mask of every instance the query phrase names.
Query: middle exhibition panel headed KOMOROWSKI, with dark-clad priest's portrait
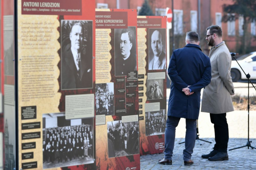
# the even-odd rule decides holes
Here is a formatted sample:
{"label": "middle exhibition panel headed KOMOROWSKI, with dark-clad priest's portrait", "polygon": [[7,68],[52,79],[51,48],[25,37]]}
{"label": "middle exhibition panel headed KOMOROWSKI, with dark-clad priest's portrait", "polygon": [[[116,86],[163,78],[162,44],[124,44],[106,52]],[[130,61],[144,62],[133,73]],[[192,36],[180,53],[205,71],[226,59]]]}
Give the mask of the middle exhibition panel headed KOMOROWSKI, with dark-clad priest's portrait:
{"label": "middle exhibition panel headed KOMOROWSKI, with dark-clad priest's portrait", "polygon": [[137,10],[95,19],[97,169],[140,169]]}

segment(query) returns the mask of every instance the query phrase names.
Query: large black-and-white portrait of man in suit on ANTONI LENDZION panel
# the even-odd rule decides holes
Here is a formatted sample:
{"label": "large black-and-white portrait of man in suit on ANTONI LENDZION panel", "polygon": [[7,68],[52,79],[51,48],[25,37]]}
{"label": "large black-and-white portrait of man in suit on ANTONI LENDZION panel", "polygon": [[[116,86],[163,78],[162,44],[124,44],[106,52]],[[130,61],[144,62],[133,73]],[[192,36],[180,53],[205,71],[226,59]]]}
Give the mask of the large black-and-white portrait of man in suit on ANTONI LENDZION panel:
{"label": "large black-and-white portrait of man in suit on ANTONI LENDZION panel", "polygon": [[93,88],[93,21],[61,20],[61,90]]}

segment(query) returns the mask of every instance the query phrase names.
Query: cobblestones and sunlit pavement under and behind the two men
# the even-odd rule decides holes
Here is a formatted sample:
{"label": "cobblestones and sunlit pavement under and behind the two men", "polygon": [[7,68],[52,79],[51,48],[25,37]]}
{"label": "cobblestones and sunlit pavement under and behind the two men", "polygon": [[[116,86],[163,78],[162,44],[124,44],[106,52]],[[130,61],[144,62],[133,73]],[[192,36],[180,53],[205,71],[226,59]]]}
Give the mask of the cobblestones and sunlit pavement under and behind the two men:
{"label": "cobblestones and sunlit pavement under and behind the two men", "polygon": [[[228,149],[246,145],[247,142],[247,111],[234,111],[227,113],[227,121],[229,125],[229,143]],[[179,142],[185,140],[185,119],[181,119],[176,128],[176,139],[173,150],[172,165],[157,164],[159,159],[162,159],[164,154],[154,154],[141,156],[142,170],[158,170],[158,169],[256,169],[256,150],[247,149],[247,147],[228,151],[229,160],[212,162],[201,158],[202,154],[209,153],[214,146],[214,129],[210,121],[209,113],[200,113],[198,119],[199,138],[211,141],[212,143],[200,141],[199,145],[196,141],[194,153],[191,159],[194,164],[184,166],[183,149],[184,144],[179,145]],[[256,147],[256,111],[250,111],[250,141],[251,145]]]}

